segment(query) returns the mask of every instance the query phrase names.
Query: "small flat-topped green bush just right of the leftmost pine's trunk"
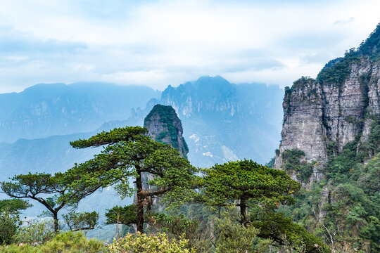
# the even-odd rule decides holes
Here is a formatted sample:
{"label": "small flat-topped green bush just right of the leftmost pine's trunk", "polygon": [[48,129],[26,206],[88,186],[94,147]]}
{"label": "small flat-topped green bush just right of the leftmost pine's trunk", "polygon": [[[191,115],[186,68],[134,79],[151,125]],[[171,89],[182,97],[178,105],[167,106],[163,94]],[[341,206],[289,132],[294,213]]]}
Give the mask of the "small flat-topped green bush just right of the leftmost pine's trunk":
{"label": "small flat-topped green bush just right of the leftmost pine's trunk", "polygon": [[99,214],[96,212],[70,212],[62,216],[70,231],[94,229],[99,219]]}

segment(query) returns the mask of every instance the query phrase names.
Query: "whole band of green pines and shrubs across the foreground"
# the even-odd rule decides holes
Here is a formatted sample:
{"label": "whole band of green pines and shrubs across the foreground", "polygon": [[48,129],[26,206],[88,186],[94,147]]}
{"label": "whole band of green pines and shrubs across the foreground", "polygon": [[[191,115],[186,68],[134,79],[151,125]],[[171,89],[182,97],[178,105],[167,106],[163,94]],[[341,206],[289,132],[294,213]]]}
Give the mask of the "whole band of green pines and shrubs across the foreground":
{"label": "whole band of green pines and shrubs across the foreground", "polygon": [[[104,149],[64,173],[17,175],[2,182],[1,190],[13,199],[1,202],[0,226],[7,229],[0,243],[8,245],[1,251],[331,252],[322,239],[279,212],[296,203],[293,195],[300,190],[286,171],[251,160],[196,169],[146,131],[127,126],[73,141],[74,148]],[[137,233],[103,245],[75,233],[96,226],[95,212],[58,214],[108,186],[121,197],[134,195],[135,202],[108,209],[106,223],[132,226]],[[25,200],[44,205],[52,222],[21,226]]]}

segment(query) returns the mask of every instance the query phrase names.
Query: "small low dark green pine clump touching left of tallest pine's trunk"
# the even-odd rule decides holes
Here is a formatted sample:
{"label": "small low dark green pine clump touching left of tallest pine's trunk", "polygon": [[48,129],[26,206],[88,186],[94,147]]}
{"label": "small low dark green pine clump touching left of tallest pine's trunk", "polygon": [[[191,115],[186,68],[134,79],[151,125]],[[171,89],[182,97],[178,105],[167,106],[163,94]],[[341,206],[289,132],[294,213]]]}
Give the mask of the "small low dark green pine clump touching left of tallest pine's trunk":
{"label": "small low dark green pine clump touching left of tallest pine's trunk", "polygon": [[137,207],[136,205],[127,205],[125,207],[115,206],[107,209],[107,224],[124,224],[130,226],[137,223]]}

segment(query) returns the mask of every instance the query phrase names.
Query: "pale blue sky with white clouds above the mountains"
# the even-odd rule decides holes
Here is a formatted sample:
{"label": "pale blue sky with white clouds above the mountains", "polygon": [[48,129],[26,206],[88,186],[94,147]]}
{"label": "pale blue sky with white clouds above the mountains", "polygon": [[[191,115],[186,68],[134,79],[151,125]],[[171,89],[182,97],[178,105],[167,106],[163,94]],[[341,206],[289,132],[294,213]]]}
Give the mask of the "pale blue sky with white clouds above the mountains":
{"label": "pale blue sky with white clouds above the mountains", "polygon": [[0,93],[39,83],[163,90],[203,75],[291,86],[359,46],[380,1],[0,0]]}

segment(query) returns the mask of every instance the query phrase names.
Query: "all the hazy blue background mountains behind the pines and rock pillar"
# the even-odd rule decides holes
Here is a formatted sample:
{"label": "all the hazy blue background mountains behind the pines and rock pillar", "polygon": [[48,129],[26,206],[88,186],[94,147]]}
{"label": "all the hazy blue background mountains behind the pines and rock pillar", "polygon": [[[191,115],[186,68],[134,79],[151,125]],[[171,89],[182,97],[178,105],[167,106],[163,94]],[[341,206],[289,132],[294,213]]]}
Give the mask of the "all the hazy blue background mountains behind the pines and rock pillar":
{"label": "all the hazy blue background mountains behind the pines and rock pillar", "polygon": [[[143,126],[157,103],[177,111],[195,166],[243,158],[265,163],[281,137],[282,97],[279,86],[236,85],[218,76],[168,86],[162,94],[144,86],[99,83],[38,84],[21,93],[0,94],[0,181],[29,172],[53,174],[89,160],[101,148],[76,150],[69,142],[114,127]],[[99,198],[110,206],[132,201],[103,190],[84,200],[80,209],[94,209]],[[27,213],[41,211],[36,204]]]}

